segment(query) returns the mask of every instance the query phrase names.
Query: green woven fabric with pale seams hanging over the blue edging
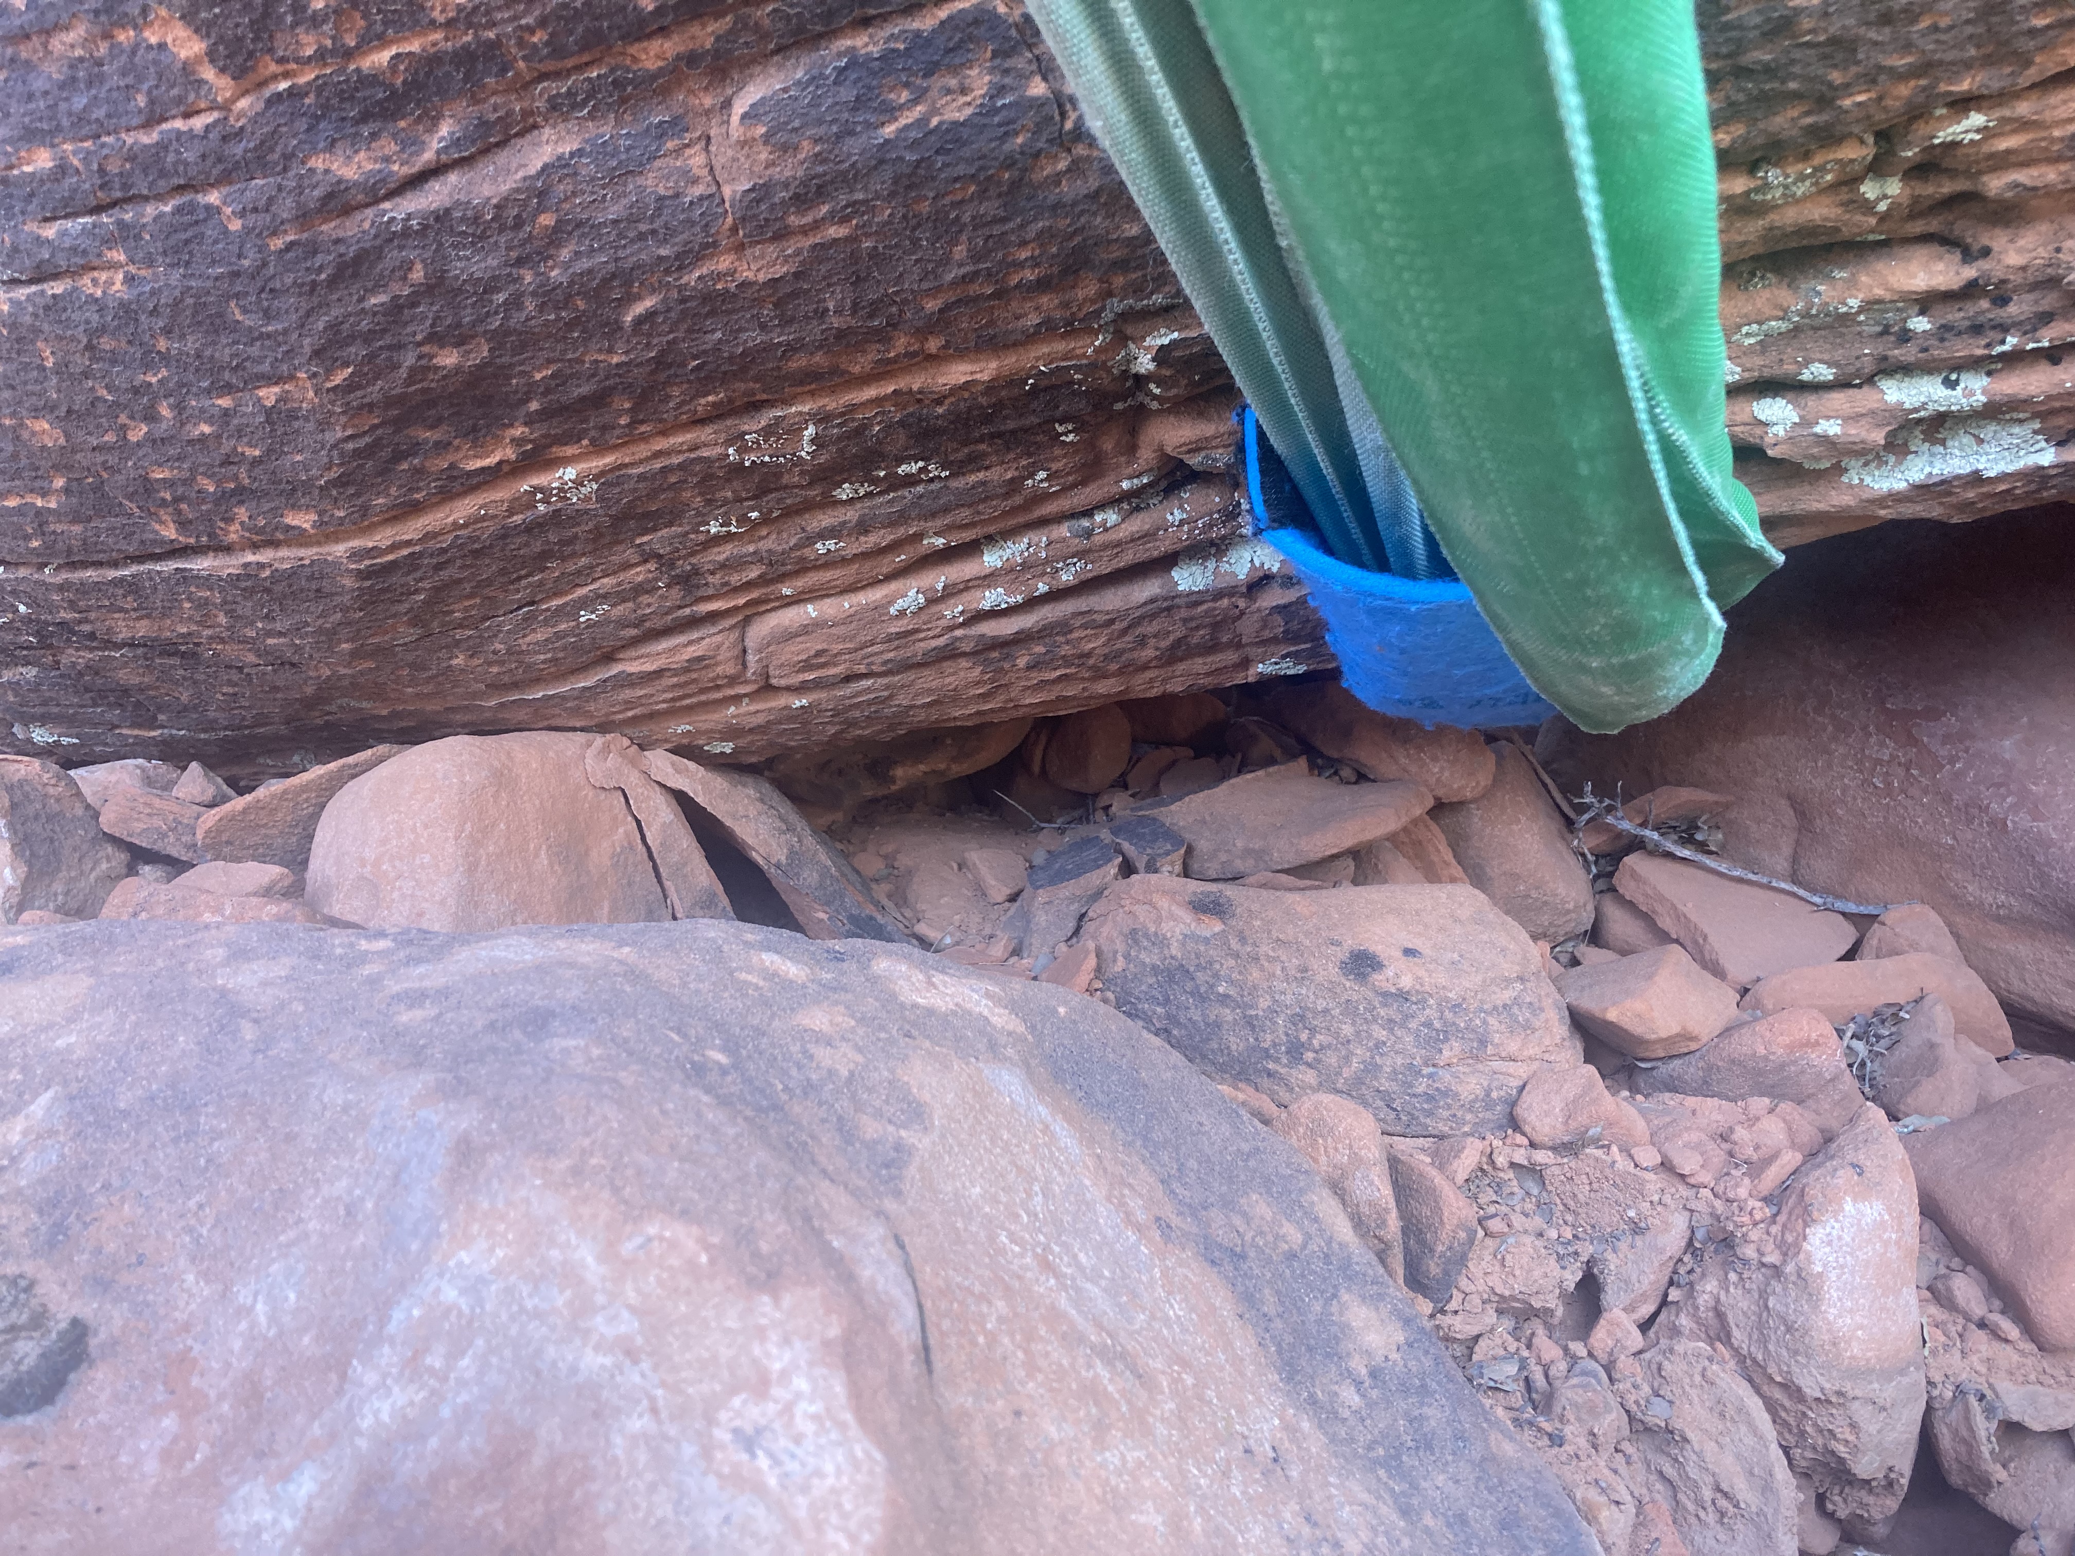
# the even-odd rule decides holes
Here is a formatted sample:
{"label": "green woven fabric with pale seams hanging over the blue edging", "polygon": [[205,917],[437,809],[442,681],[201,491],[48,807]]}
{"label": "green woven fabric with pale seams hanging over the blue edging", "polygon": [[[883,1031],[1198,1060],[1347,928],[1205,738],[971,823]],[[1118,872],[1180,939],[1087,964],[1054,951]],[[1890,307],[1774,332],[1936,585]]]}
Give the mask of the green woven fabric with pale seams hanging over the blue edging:
{"label": "green woven fabric with pale seams hanging over the blue edging", "polygon": [[1616,730],[1699,687],[1780,556],[1731,475],[1689,4],[1033,8],[1328,550],[1396,554],[1374,413],[1544,697]]}

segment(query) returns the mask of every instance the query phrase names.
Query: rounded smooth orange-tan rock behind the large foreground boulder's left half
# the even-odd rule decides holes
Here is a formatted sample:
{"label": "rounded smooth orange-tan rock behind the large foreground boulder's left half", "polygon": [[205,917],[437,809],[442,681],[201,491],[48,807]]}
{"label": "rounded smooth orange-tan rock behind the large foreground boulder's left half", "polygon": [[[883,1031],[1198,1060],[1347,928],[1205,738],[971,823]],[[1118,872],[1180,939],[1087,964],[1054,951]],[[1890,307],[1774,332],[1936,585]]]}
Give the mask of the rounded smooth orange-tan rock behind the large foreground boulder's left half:
{"label": "rounded smooth orange-tan rock behind the large foreground boulder's left half", "polygon": [[309,905],[380,929],[668,919],[641,826],[585,774],[596,741],[454,734],[371,766],[324,807]]}

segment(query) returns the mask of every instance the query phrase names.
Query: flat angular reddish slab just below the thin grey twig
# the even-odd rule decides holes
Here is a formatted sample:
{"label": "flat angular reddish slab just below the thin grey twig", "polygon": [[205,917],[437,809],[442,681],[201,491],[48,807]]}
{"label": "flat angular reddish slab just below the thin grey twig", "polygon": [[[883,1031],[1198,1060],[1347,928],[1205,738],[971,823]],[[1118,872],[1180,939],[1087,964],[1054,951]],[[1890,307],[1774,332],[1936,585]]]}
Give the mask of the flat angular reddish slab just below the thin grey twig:
{"label": "flat angular reddish slab just below the thin grey twig", "polygon": [[1614,871],[1614,890],[1739,990],[1789,967],[1834,963],[1859,938],[1843,913],[1685,859],[1631,853]]}

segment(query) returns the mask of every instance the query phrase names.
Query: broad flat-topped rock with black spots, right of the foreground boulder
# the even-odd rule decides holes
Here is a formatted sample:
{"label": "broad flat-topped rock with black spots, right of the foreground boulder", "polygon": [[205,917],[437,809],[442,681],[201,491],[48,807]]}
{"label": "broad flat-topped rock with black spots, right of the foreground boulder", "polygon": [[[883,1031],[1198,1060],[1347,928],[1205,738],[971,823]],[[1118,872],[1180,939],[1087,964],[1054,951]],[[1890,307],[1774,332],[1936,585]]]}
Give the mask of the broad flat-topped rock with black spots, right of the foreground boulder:
{"label": "broad flat-topped rock with black spots, right of the foreground boulder", "polygon": [[1579,1062],[1533,944],[1469,886],[1133,876],[1083,938],[1116,1008],[1214,1081],[1332,1091],[1388,1135],[1502,1133],[1529,1075]]}

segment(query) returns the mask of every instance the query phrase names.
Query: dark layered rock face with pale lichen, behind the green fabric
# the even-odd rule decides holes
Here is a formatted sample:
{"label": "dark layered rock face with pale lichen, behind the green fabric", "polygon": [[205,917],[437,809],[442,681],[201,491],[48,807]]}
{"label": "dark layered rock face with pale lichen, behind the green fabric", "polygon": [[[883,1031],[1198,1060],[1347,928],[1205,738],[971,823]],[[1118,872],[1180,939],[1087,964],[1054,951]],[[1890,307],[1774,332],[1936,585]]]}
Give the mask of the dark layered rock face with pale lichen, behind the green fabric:
{"label": "dark layered rock face with pale lichen, behind the green fabric", "polygon": [[[2060,490],[2075,17],[1702,27],[1768,527]],[[751,761],[1330,664],[1008,0],[37,6],[0,272],[6,751]]]}

